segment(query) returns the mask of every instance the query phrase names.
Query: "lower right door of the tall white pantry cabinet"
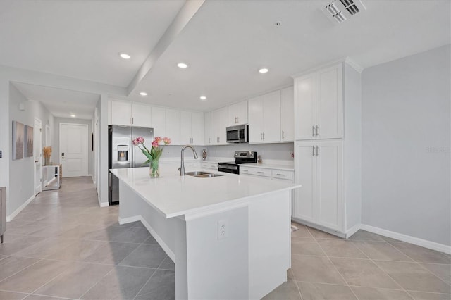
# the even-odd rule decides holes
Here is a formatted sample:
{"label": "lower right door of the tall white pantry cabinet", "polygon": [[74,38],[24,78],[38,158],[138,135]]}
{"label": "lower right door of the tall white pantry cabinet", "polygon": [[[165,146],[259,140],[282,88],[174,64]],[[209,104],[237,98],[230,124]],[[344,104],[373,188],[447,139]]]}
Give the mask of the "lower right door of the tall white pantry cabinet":
{"label": "lower right door of the tall white pantry cabinet", "polygon": [[316,223],[342,232],[342,142],[316,144]]}

